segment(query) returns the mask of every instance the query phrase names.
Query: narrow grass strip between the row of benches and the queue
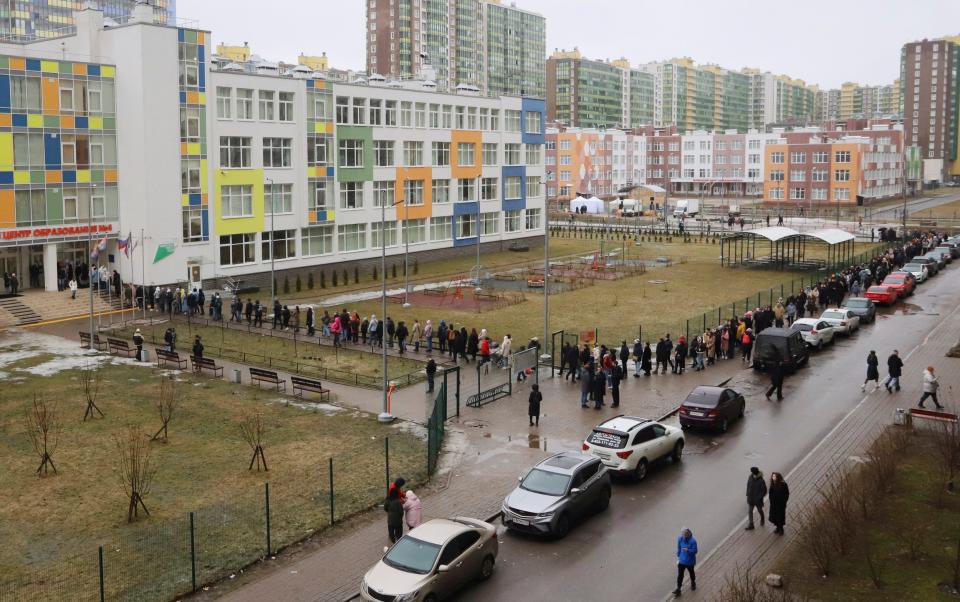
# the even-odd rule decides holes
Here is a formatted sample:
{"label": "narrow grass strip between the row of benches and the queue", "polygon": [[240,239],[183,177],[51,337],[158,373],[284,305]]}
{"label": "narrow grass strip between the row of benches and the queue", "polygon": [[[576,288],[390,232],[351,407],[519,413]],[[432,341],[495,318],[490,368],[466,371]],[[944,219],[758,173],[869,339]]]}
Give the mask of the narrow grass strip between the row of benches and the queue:
{"label": "narrow grass strip between the row of benches and the queue", "polygon": [[[144,338],[151,343],[163,343],[163,334],[169,327],[164,322],[149,326],[140,326]],[[359,384],[379,387],[382,382],[383,363],[380,354],[373,354],[350,346],[336,350],[330,345],[317,345],[298,339],[296,345],[292,338],[270,336],[269,325],[263,329],[231,330],[217,326],[188,325],[185,320],[174,323],[177,329],[177,348],[181,354],[189,355],[193,338],[200,335],[203,341],[203,353],[210,357],[222,357],[256,365],[276,367],[282,370],[296,369],[304,374],[317,375],[321,380],[332,380],[346,384]],[[119,331],[122,338],[130,340],[133,327]],[[302,334],[306,330],[301,331]],[[313,339],[316,341],[316,339]],[[398,384],[406,385],[421,380],[420,371],[424,364],[418,360],[388,357],[387,370]],[[408,375],[410,375],[408,377]]]}

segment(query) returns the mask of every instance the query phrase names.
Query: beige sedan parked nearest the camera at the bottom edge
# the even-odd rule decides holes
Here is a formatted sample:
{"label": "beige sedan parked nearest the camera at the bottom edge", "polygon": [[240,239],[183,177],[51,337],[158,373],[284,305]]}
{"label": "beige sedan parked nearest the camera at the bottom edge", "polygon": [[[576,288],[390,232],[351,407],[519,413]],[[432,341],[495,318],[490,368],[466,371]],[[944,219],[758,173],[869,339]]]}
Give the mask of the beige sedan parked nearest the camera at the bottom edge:
{"label": "beige sedan parked nearest the camera at the bottom edge", "polygon": [[473,518],[437,518],[412,529],[363,576],[363,600],[437,601],[475,579],[488,579],[497,560],[497,529]]}

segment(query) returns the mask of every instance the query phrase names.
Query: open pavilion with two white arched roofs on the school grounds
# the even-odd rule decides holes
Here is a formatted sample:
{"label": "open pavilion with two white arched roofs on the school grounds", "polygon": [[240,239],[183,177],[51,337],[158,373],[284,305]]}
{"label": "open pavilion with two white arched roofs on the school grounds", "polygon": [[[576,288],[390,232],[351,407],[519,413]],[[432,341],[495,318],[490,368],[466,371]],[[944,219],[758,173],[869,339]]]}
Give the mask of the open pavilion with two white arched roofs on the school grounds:
{"label": "open pavilion with two white arched roofs on the school grounds", "polygon": [[821,270],[843,264],[853,254],[853,234],[837,228],[798,232],[775,226],[720,239],[720,265],[729,267]]}

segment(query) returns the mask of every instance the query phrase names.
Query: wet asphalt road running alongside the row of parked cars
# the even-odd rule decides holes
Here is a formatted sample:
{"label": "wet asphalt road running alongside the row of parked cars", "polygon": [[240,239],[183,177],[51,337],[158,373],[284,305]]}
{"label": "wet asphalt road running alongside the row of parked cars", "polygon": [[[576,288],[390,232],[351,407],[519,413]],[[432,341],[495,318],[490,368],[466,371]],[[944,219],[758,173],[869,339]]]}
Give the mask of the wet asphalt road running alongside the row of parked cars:
{"label": "wet asphalt road running alongside the row of parked cars", "polygon": [[[791,469],[864,398],[859,385],[869,350],[877,351],[882,365],[894,348],[904,357],[955,308],[957,271],[941,272],[906,303],[881,309],[875,324],[814,353],[807,367],[787,377],[782,403],[766,401],[763,375],[739,371],[731,386],[747,395],[742,422],[723,435],[688,434],[683,462],[667,461],[639,484],[615,483],[610,509],[576,525],[565,539],[542,540],[501,527],[493,578],[458,599],[663,599],[675,585],[681,527],[693,530],[701,560],[742,528],[750,466],[767,475],[782,472],[789,483]],[[905,361],[904,378],[918,379],[923,367]],[[914,403],[903,400],[906,407]],[[518,473],[522,469],[518,466]]]}

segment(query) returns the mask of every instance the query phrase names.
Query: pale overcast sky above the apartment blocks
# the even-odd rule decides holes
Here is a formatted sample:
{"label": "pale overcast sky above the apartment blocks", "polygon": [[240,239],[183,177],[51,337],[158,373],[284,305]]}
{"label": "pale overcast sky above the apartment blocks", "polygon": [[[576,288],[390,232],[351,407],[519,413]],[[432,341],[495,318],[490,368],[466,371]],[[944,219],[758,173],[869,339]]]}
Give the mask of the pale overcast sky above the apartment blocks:
{"label": "pale overcast sky above the apartment blocks", "polygon": [[[504,0],[506,2],[507,0]],[[331,65],[364,68],[363,0],[178,0],[180,17],[214,43],[249,42],[271,60],[326,51]],[[958,0],[516,0],[547,19],[547,54],[643,63],[689,56],[756,67],[835,88],[890,83],[904,42],[960,34]],[[249,7],[249,8],[248,8]],[[256,7],[256,8],[254,8]]]}

